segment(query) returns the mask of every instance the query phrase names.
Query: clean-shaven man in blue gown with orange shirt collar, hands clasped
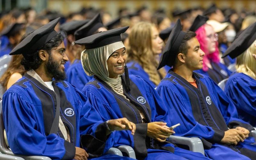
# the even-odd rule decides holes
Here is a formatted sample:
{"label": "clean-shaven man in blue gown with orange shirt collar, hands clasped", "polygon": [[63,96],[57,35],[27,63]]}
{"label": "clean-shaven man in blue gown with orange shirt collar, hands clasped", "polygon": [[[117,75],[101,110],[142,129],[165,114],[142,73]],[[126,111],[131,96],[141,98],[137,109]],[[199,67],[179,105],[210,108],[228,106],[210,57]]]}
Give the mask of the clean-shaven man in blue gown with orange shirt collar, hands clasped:
{"label": "clean-shaven man in blue gown with orange shirt collar, hands clasped", "polygon": [[171,122],[180,123],[176,135],[199,137],[205,155],[212,159],[253,159],[255,141],[248,136],[254,128],[237,118],[234,104],[212,79],[193,72],[203,67],[204,56],[196,34],[181,31],[179,20],[173,31],[158,66],[172,69],[157,92],[171,114]]}

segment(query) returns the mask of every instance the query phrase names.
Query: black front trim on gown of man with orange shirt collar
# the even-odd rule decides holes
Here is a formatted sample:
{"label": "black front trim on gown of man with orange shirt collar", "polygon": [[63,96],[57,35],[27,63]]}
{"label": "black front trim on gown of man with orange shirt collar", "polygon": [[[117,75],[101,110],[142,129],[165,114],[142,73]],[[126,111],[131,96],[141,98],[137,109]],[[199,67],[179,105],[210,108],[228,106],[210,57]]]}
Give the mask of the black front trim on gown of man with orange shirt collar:
{"label": "black front trim on gown of man with orange shirt collar", "polygon": [[[196,79],[198,87],[196,88],[172,70],[169,71],[169,74],[172,75],[171,78],[169,78],[170,81],[176,79],[177,81],[180,81],[179,84],[186,89],[195,120],[202,125],[212,127],[214,130],[212,139],[207,141],[210,143],[220,143],[220,140],[224,137],[224,132],[228,130],[228,126],[219,109],[211,100],[207,87],[200,81],[201,75],[193,73],[193,77]],[[204,143],[204,145],[211,147],[210,143]]]}

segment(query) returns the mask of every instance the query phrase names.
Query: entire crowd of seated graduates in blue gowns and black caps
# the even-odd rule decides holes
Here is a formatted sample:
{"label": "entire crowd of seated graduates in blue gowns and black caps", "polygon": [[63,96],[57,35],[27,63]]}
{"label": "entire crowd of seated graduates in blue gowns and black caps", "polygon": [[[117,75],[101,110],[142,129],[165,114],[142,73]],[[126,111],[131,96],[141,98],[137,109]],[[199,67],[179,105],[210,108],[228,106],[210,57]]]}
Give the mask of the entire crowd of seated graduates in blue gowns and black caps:
{"label": "entire crowd of seated graduates in blue gowns and black caps", "polygon": [[[171,22],[142,7],[112,21],[82,10],[63,22],[53,12],[30,20],[33,11],[1,18],[13,21],[1,31],[0,59],[11,60],[0,83],[14,154],[132,159],[108,153],[127,145],[136,159],[256,156],[255,16],[243,22],[230,10],[226,20],[212,5],[173,11]],[[200,138],[204,154],[171,135]]]}

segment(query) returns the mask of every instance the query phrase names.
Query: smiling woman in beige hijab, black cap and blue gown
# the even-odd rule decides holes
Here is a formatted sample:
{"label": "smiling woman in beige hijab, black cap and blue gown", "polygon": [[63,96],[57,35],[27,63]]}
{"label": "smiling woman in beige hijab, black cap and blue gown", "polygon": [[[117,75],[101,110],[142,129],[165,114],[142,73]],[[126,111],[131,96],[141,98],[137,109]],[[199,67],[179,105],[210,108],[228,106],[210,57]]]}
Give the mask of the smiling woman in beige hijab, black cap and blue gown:
{"label": "smiling woman in beige hijab, black cap and blue gown", "polygon": [[[124,67],[126,48],[120,34],[127,28],[108,30],[75,42],[86,48],[81,55],[84,71],[95,75],[82,90],[92,104],[81,110],[84,116],[80,126],[86,128],[80,133],[83,148],[87,148],[84,144],[91,140],[99,145],[96,156],[111,147],[129,145],[138,159],[206,159],[201,153],[175,147],[166,141],[174,133],[167,127],[171,125],[167,108],[149,82],[139,76],[129,77]],[[93,110],[99,114],[90,114]],[[130,131],[106,135],[96,127],[109,119],[123,117],[136,124],[134,135]]]}

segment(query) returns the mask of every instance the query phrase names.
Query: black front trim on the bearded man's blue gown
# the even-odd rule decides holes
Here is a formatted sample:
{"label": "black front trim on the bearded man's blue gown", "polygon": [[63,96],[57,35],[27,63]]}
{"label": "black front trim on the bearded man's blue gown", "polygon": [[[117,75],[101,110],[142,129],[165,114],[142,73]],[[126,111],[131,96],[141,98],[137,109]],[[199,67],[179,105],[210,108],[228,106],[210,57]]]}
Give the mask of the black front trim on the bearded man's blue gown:
{"label": "black front trim on the bearded man's blue gown", "polygon": [[[48,136],[50,133],[50,130],[51,130],[52,122],[53,122],[55,111],[56,111],[57,103],[56,103],[55,93],[52,90],[50,90],[49,88],[45,87],[43,84],[41,84],[39,81],[37,81],[32,76],[25,74],[24,77],[27,78],[28,80],[30,80],[30,84],[34,89],[36,96],[41,101],[43,117],[44,117],[44,131],[45,131],[46,136]],[[23,87],[24,86],[23,83],[24,83],[23,80],[21,80],[20,82],[17,82],[16,84]],[[63,90],[61,90],[58,86],[56,86],[56,84],[54,82],[52,83],[52,86],[53,86],[54,90],[58,89],[60,92],[60,112],[61,112],[60,117],[61,117],[62,122],[68,128],[69,133],[70,133],[71,143],[69,143],[68,141],[64,142],[64,146],[66,148],[65,155],[66,155],[66,157],[73,158],[75,155],[75,152],[73,154],[73,151],[75,148],[75,141],[76,141],[76,110],[75,110],[75,108],[73,108],[73,106],[67,100],[65,92]],[[66,109],[68,109],[70,111],[71,115],[67,114]],[[66,110],[66,114],[65,114],[65,110]],[[57,134],[61,138],[64,139],[64,136],[61,133],[60,129],[58,129]],[[69,143],[70,145],[67,143]],[[66,146],[69,146],[69,147],[66,147]],[[70,147],[70,146],[73,146],[73,147]]]}

